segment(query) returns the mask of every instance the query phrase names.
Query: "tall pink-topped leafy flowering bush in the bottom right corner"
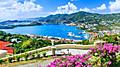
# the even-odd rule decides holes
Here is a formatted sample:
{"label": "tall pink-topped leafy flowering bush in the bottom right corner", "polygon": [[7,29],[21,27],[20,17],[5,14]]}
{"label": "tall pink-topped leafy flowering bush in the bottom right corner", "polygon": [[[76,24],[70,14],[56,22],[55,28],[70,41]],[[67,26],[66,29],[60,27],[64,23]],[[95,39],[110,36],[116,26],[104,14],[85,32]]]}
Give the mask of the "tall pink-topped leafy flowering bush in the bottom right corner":
{"label": "tall pink-topped leafy flowering bush in the bottom right corner", "polygon": [[95,49],[91,49],[90,54],[92,59],[96,61],[93,62],[97,66],[111,66],[115,65],[117,62],[117,56],[120,53],[120,46],[112,44],[104,44],[103,46],[98,46]]}

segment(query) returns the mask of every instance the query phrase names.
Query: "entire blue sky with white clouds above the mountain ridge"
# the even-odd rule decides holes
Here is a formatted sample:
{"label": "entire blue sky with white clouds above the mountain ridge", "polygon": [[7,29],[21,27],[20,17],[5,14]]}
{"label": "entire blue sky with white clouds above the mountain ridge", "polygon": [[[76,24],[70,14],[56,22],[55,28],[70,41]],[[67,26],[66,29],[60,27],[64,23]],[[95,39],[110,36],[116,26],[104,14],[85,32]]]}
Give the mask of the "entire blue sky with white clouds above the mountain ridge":
{"label": "entire blue sky with white clouds above the mountain ridge", "polygon": [[0,0],[0,21],[78,11],[120,13],[120,0]]}

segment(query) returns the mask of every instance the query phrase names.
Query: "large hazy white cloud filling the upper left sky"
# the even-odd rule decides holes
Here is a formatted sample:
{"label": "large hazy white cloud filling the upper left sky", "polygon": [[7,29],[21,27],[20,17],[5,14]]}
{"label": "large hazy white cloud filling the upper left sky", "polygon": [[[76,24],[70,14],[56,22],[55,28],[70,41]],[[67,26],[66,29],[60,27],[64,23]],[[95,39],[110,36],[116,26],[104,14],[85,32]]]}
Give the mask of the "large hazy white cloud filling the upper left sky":
{"label": "large hazy white cloud filling the upper left sky", "polygon": [[34,1],[25,0],[24,3],[21,3],[18,0],[0,0],[0,18],[17,19],[34,16],[32,14],[42,10],[42,7],[35,4]]}

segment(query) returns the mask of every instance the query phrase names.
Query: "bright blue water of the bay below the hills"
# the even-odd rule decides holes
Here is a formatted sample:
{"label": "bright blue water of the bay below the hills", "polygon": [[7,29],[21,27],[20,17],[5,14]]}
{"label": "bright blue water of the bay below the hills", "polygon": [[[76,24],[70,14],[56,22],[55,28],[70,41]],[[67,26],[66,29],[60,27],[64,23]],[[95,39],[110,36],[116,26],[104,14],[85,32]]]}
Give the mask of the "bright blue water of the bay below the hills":
{"label": "bright blue water of the bay below the hills", "polygon": [[[85,40],[88,39],[89,37],[87,33],[82,33],[84,32],[84,30],[78,30],[76,26],[67,26],[67,25],[45,24],[45,25],[24,26],[24,27],[16,27],[13,29],[1,29],[1,30],[11,34],[35,34],[41,36],[61,37],[61,38],[67,38],[73,40]],[[68,32],[72,32],[76,36],[80,36],[80,37],[70,37],[68,36]]]}

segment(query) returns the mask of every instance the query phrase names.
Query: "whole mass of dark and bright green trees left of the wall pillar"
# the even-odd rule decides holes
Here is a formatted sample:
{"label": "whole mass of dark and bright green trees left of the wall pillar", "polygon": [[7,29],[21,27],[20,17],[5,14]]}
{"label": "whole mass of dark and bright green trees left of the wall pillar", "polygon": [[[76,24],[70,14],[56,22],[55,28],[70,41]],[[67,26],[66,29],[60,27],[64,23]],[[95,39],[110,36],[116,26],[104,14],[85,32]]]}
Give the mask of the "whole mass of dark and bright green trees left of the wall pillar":
{"label": "whole mass of dark and bright green trees left of the wall pillar", "polygon": [[10,34],[3,31],[0,31],[0,40],[13,43],[9,46],[13,47],[17,54],[51,45],[50,40],[42,40],[39,37],[30,38],[27,35]]}

